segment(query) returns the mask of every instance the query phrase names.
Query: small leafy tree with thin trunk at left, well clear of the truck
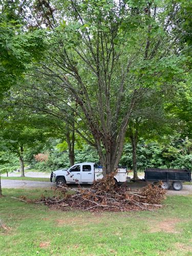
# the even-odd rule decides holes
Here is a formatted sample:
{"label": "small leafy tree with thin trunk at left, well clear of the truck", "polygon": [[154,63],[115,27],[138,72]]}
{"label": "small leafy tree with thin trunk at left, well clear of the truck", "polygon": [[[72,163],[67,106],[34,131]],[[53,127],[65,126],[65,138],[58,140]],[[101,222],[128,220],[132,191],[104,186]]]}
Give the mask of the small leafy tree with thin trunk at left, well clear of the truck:
{"label": "small leafy tree with thin trunk at left, well clear of the truck", "polygon": [[1,112],[1,146],[15,153],[20,162],[21,176],[24,177],[24,150],[45,140],[43,127],[35,127],[35,119],[25,112],[17,114],[18,109],[8,108]]}

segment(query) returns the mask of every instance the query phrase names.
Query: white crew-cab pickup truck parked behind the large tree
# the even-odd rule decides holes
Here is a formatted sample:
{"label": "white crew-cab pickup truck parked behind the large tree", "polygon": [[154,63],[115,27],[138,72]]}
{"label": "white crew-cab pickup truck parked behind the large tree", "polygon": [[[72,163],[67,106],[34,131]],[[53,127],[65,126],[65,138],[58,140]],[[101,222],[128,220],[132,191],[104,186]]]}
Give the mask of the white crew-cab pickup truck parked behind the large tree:
{"label": "white crew-cab pickup truck parked behind the large tree", "polygon": [[[126,181],[126,167],[118,167],[117,175],[114,179],[117,183]],[[62,186],[65,183],[93,183],[94,180],[101,179],[102,167],[95,163],[77,163],[69,169],[59,169],[51,173],[50,181]]]}

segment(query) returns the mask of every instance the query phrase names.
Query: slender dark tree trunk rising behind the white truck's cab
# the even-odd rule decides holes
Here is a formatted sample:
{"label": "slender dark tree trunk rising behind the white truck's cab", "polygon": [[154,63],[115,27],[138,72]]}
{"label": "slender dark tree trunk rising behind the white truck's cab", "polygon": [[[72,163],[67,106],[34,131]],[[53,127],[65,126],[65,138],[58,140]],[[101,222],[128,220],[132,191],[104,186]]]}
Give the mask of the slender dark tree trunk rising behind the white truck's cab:
{"label": "slender dark tree trunk rising behind the white truck's cab", "polygon": [[70,131],[70,128],[67,127],[66,140],[67,140],[67,143],[68,143],[68,152],[69,152],[70,166],[72,166],[75,163],[75,152],[74,152],[74,146],[75,146],[75,123],[73,123],[73,125],[72,125],[72,131]]}

